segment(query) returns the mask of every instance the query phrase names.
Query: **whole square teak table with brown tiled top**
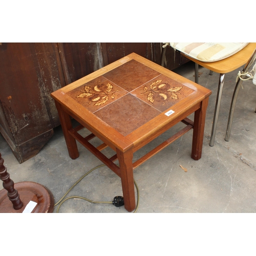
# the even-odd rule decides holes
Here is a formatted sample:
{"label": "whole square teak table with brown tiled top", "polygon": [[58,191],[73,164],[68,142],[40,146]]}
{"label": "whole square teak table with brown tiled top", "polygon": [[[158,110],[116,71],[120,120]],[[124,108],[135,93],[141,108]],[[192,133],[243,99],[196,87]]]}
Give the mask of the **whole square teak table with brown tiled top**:
{"label": "whole square teak table with brown tiled top", "polygon": [[[190,129],[194,129],[191,157],[201,158],[210,94],[199,84],[132,53],[51,95],[70,157],[79,156],[77,140],[121,178],[124,207],[133,211],[134,168]],[[194,112],[193,122],[187,116]],[[81,125],[73,128],[70,117]],[[180,121],[186,124],[182,130],[133,162],[136,151]],[[83,127],[92,134],[83,138],[78,133]],[[102,145],[89,142],[95,136]],[[111,158],[101,153],[106,146],[116,153]]]}

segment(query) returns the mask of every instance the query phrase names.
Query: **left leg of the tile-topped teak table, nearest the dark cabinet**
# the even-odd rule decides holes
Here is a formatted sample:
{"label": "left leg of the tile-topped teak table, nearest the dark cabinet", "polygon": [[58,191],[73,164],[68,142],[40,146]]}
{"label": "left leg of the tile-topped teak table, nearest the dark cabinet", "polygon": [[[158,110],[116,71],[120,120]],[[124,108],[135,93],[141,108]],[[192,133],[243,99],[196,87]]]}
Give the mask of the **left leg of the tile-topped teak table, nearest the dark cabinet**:
{"label": "left leg of the tile-topped teak table, nearest the dark cabinet", "polygon": [[69,156],[72,159],[79,157],[76,140],[69,134],[69,130],[72,129],[71,118],[67,112],[65,112],[61,105],[55,101],[55,105],[59,114],[59,120],[62,127],[63,135],[66,140]]}

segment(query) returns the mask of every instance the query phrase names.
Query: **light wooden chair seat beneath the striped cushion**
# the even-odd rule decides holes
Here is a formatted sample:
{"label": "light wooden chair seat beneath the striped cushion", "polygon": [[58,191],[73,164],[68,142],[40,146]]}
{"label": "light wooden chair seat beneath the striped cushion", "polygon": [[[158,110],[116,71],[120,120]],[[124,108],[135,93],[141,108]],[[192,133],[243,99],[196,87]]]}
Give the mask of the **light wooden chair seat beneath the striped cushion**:
{"label": "light wooden chair seat beneath the striped cushion", "polygon": [[216,73],[226,74],[245,65],[245,63],[249,60],[252,53],[254,52],[255,48],[256,42],[250,42],[244,49],[237,52],[236,54],[215,62],[202,62],[188,56],[186,56],[186,58],[198,63],[200,66],[206,69],[212,70]]}

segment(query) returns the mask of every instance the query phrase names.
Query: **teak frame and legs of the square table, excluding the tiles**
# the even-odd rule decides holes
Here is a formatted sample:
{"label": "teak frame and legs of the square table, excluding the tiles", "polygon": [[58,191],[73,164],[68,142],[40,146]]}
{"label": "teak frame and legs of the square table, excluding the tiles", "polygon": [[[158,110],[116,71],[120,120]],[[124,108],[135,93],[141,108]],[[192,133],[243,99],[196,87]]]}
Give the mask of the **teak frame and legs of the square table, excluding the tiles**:
{"label": "teak frame and legs of the square table, excluding the tiles", "polygon": [[[106,72],[120,67],[131,59],[136,60],[167,77],[172,77],[172,79],[182,84],[185,84],[186,87],[193,89],[194,93],[191,93],[185,99],[179,101],[178,103],[174,104],[172,108],[168,109],[172,109],[174,114],[166,116],[164,113],[161,113],[156,118],[153,118],[152,120],[143,124],[134,132],[123,136],[112,126],[106,124],[92,112],[83,108],[81,104],[69,97],[67,93],[74,88],[77,88],[81,84],[84,84],[102,74],[105,74]],[[148,158],[160,152],[164,147],[168,146],[190,129],[194,129],[191,157],[195,160],[201,158],[205,115],[208,105],[208,97],[210,94],[210,90],[203,88],[198,84],[153,63],[150,60],[132,53],[86,77],[69,84],[62,89],[57,90],[56,92],[53,92],[52,97],[55,100],[70,157],[75,159],[79,156],[76,144],[77,140],[121,178],[124,207],[127,211],[133,211],[136,207],[133,177],[134,168],[138,167]],[[187,116],[192,113],[195,113],[194,122],[187,118]],[[70,117],[73,117],[81,125],[73,128]],[[180,121],[186,124],[181,131],[133,163],[133,154],[136,151]],[[78,133],[78,131],[83,127],[86,127],[92,134],[83,138]],[[102,145],[95,147],[89,142],[89,140],[95,136],[102,140]],[[116,152],[116,155],[112,156],[111,158],[104,156],[101,153],[101,150],[103,150],[103,148],[106,146],[111,147]],[[114,161],[117,159],[120,167],[114,163]]]}

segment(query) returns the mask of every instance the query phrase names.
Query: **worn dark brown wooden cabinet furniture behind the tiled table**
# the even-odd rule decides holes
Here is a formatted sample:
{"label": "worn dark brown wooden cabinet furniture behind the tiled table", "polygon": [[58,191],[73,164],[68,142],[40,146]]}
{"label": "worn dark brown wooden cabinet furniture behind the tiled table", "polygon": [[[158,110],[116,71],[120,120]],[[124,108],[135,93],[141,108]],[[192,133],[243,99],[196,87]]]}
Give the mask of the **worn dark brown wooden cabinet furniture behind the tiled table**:
{"label": "worn dark brown wooden cabinet furniture behind the tiled table", "polygon": [[[0,132],[19,163],[35,156],[60,124],[51,92],[132,52],[160,64],[160,43],[2,43]],[[172,50],[166,57],[171,70],[187,61]]]}

